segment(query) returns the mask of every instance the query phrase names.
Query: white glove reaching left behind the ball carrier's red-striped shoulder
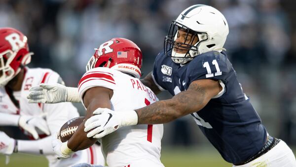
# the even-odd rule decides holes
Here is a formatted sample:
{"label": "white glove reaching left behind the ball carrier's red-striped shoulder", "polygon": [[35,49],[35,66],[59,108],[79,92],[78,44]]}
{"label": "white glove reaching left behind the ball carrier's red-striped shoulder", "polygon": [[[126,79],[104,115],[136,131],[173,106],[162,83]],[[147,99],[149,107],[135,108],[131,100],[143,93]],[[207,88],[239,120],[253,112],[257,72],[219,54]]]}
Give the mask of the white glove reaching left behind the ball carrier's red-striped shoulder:
{"label": "white glove reaching left behind the ball carrier's red-striped shoulder", "polygon": [[76,87],[66,87],[63,84],[46,84],[33,86],[27,96],[29,103],[60,103],[60,102],[80,102],[78,89]]}

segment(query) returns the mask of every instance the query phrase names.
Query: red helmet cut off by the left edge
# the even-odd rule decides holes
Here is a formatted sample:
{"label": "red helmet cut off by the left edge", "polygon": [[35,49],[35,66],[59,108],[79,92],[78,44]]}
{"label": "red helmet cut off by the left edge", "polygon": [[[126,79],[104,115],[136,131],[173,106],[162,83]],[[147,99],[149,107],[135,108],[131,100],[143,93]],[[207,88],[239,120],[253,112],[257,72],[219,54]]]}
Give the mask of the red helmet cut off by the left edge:
{"label": "red helmet cut off by the left edge", "polygon": [[31,62],[27,37],[13,28],[0,28],[0,86],[6,85]]}

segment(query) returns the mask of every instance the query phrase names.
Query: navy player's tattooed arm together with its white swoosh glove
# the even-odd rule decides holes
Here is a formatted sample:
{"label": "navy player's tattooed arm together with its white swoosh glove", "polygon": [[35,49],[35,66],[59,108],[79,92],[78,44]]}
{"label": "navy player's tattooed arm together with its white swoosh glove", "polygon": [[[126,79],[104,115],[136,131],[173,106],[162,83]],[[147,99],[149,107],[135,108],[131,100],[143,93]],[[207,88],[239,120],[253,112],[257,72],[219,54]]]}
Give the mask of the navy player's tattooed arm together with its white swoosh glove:
{"label": "navy player's tattooed arm together with its white swoosh glove", "polygon": [[[201,110],[221,90],[222,87],[218,81],[197,80],[190,83],[186,91],[180,92],[172,99],[157,101],[137,110],[114,112],[106,108],[98,108],[93,113],[97,115],[85,123],[84,131],[96,128],[88,132],[87,137],[101,138],[121,126],[168,123]],[[110,121],[106,119],[108,114],[113,116]],[[113,128],[114,125],[117,125],[116,128]]]}

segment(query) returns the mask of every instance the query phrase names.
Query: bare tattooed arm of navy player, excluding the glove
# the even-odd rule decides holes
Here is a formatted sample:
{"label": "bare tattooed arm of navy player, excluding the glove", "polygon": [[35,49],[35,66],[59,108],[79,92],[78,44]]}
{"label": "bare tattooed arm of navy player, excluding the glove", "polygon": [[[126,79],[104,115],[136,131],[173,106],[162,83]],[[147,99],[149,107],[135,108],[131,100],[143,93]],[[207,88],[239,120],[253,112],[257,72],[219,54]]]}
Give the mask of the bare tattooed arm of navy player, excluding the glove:
{"label": "bare tattooed arm of navy player, excluding the glove", "polygon": [[201,110],[222,90],[218,81],[197,80],[169,100],[161,100],[135,110],[138,124],[162,124]]}

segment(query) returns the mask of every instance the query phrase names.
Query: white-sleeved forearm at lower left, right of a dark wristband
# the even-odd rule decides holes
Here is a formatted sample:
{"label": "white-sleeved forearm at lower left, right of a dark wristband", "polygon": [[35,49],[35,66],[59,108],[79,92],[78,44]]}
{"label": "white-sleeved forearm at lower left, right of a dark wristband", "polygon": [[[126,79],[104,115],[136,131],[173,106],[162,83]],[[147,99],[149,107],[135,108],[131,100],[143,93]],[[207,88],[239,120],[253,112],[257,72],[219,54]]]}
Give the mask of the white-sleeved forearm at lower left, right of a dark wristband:
{"label": "white-sleeved forearm at lower left, right of a dark wristband", "polygon": [[17,152],[33,155],[54,155],[51,140],[52,136],[39,140],[17,140]]}

